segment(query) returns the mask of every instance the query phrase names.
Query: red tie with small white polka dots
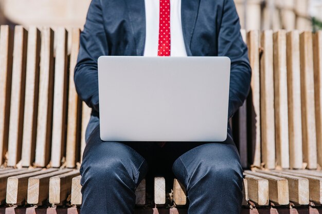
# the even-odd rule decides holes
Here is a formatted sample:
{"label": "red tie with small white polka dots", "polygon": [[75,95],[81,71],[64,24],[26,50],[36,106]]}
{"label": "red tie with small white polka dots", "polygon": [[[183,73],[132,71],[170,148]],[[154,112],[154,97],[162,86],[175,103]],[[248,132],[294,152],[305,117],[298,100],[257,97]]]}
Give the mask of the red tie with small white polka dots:
{"label": "red tie with small white polka dots", "polygon": [[170,56],[170,0],[160,0],[158,56]]}

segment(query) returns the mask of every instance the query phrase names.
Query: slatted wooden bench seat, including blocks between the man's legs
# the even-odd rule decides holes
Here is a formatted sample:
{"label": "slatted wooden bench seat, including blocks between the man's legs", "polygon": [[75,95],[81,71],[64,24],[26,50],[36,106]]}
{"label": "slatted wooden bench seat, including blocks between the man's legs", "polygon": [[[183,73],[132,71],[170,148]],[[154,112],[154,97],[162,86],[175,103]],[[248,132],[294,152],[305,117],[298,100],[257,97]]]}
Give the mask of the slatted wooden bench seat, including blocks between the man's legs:
{"label": "slatted wooden bench seat, including blocks between the man's legs", "polygon": [[[322,202],[322,172],[318,170],[256,170],[244,171],[243,205],[283,206],[314,205]],[[75,169],[32,168],[0,170],[1,204],[80,206],[81,185]],[[157,206],[188,204],[186,190],[174,179],[166,192],[163,177],[155,177],[153,200]],[[136,205],[146,205],[146,180],[136,189]],[[171,194],[169,194],[171,193]],[[168,201],[170,200],[170,201]]]}

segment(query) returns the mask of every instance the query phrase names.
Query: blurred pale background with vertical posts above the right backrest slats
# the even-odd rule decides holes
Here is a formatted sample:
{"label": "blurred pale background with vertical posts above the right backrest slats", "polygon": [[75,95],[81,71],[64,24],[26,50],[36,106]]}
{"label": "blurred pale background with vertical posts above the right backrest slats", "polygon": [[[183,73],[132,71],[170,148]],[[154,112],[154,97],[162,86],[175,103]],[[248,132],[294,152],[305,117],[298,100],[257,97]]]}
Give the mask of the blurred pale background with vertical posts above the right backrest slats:
{"label": "blurred pale background with vertical posts above the right backrest slats", "polygon": [[247,30],[312,30],[311,17],[322,20],[322,0],[235,0]]}

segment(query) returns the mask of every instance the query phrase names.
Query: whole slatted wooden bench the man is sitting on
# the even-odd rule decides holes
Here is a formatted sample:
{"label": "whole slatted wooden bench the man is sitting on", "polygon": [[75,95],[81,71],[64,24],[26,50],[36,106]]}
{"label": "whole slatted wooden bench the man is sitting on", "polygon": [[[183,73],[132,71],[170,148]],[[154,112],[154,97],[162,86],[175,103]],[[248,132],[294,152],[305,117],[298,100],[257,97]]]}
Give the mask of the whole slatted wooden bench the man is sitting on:
{"label": "whole slatted wooden bench the man is sitting on", "polygon": [[[245,168],[243,213],[321,211],[322,32],[241,33],[253,69],[252,90],[231,120]],[[79,211],[91,114],[74,86],[79,35],[0,27],[0,213],[65,213],[66,204],[68,213]],[[186,191],[175,179],[145,179],[136,196],[138,207],[151,207],[136,213],[154,205],[154,213],[169,213],[167,206],[187,213]]]}

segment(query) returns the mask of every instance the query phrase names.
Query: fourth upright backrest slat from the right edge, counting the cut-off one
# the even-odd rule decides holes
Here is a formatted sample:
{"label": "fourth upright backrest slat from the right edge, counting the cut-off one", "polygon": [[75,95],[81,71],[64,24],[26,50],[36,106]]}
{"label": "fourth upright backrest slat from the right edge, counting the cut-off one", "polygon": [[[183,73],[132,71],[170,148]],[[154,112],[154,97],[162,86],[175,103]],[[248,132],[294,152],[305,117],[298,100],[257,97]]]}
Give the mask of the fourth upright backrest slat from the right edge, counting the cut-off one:
{"label": "fourth upright backrest slat from the right edge, counting the cut-off one", "polygon": [[274,33],[274,104],[277,165],[290,168],[286,31]]}

